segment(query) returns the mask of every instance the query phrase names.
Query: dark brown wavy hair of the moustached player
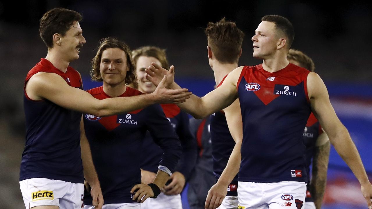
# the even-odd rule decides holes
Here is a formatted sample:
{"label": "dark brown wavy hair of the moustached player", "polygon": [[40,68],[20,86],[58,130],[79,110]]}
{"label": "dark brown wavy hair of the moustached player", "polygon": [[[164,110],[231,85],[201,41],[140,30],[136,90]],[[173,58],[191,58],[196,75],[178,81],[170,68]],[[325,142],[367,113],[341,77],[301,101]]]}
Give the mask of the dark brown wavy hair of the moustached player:
{"label": "dark brown wavy hair of the moustached player", "polygon": [[82,19],[81,14],[73,10],[51,9],[40,19],[40,37],[48,48],[53,48],[53,35],[58,33],[65,36],[74,21],[79,22]]}

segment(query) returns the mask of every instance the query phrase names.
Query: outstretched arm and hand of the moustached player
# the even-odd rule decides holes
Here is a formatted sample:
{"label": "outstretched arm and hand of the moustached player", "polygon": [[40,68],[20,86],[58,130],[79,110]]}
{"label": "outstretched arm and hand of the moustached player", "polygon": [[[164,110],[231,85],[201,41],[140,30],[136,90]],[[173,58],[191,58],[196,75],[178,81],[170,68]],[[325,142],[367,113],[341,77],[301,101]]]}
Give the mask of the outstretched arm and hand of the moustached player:
{"label": "outstretched arm and hand of the moustached player", "polygon": [[98,117],[138,110],[154,103],[183,102],[190,94],[185,91],[187,89],[174,91],[164,88],[162,84],[159,86],[160,88],[151,94],[99,100],[86,91],[69,86],[57,74],[38,72],[29,79],[25,91],[31,99],[47,99],[66,109]]}

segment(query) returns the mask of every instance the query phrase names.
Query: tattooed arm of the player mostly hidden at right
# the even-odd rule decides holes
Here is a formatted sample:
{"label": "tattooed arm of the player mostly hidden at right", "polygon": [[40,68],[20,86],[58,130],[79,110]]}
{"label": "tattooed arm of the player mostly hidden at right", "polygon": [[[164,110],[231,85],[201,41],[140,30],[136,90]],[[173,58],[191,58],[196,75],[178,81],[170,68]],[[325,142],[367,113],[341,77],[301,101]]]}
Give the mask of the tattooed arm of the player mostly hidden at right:
{"label": "tattooed arm of the player mostly hidden at right", "polygon": [[316,144],[314,148],[310,191],[314,199],[315,208],[320,209],[323,202],[325,185],[327,184],[327,169],[331,146],[328,136],[324,132],[317,138],[318,142],[322,144],[318,144],[318,146]]}

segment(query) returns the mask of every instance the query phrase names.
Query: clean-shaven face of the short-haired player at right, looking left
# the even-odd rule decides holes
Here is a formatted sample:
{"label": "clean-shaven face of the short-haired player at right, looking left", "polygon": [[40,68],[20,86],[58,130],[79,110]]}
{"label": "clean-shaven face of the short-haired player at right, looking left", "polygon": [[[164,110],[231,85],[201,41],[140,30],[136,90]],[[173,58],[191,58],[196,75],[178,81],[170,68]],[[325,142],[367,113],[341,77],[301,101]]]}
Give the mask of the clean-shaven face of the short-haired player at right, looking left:
{"label": "clean-shaven face of the short-haired player at right, looking left", "polygon": [[254,31],[253,57],[257,59],[266,59],[274,55],[280,38],[278,37],[275,23],[262,21]]}

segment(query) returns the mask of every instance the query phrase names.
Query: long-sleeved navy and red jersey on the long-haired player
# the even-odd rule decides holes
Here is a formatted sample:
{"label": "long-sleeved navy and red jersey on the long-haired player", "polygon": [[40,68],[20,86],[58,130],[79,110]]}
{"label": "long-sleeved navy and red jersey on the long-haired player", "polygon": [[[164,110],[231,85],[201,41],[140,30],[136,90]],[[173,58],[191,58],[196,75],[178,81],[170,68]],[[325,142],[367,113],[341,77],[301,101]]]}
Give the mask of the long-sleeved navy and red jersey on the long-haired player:
{"label": "long-sleeved navy and red jersey on the long-haired player", "polygon": [[[111,98],[102,86],[87,92],[97,99]],[[119,97],[140,94],[140,91],[127,87]],[[160,105],[102,118],[90,114],[83,116],[105,204],[134,202],[130,190],[141,183],[141,157],[152,153],[142,146],[146,131],[162,150],[157,165],[160,161],[160,165],[174,170],[182,148]],[[84,193],[84,204],[92,204],[89,193]]]}

